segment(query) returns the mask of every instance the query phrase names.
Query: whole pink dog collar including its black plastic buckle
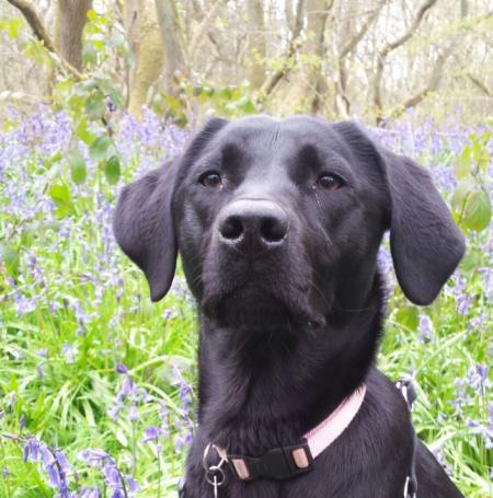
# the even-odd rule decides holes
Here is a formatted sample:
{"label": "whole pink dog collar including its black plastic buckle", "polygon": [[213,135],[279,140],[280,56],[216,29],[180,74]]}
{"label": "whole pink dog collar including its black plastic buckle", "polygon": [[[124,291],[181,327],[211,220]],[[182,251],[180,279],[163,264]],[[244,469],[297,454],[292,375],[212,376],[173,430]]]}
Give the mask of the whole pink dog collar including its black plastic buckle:
{"label": "whole pink dog collar including its black plastic buckle", "polygon": [[209,444],[204,454],[205,468],[207,470],[208,466],[206,463],[208,453],[214,448],[221,459],[221,464],[228,462],[240,480],[252,480],[260,477],[287,479],[303,474],[311,470],[313,460],[349,426],[362,407],[365,394],[366,385],[362,384],[324,420],[308,431],[299,443],[274,448],[259,458],[229,454],[226,449]]}

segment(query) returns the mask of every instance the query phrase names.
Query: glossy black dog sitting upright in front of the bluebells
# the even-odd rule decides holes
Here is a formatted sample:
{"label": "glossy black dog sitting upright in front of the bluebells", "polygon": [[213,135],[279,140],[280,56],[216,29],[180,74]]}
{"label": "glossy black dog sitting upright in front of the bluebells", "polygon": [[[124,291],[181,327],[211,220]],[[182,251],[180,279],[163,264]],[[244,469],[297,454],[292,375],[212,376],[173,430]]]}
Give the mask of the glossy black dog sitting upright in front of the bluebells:
{"label": "glossy black dog sitting upright in front of the bluebells", "polygon": [[[383,233],[416,304],[436,298],[465,251],[425,171],[353,123],[213,119],[123,190],[114,230],[153,301],[180,251],[198,302],[199,428],[182,496],[211,498],[225,478],[219,498],[398,498],[415,496],[414,470],[419,498],[462,496],[374,367]],[[312,460],[302,436],[362,385],[359,410]],[[206,476],[203,463],[220,468]]]}

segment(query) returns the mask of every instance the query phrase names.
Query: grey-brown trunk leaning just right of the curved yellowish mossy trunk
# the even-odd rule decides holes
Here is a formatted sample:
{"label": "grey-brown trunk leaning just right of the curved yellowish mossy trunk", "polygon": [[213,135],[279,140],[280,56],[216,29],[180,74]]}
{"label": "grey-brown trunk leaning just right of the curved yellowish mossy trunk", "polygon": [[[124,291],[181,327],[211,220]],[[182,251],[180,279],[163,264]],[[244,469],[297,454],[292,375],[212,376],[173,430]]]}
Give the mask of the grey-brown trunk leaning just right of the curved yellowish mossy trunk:
{"label": "grey-brown trunk leaning just right of the curved yellowish mossy trunk", "polygon": [[164,48],[164,85],[171,95],[177,94],[177,83],[187,73],[183,36],[174,0],[156,0],[158,21]]}

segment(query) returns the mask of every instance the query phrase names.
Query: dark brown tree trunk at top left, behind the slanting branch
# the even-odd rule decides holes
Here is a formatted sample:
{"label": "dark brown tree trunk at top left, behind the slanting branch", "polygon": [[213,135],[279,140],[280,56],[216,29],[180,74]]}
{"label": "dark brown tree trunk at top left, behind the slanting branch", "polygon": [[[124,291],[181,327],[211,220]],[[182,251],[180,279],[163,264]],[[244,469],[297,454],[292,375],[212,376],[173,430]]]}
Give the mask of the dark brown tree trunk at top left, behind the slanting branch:
{"label": "dark brown tree trunk at top left, behind the slanting branch", "polygon": [[58,0],[55,46],[77,70],[82,71],[82,32],[92,0]]}

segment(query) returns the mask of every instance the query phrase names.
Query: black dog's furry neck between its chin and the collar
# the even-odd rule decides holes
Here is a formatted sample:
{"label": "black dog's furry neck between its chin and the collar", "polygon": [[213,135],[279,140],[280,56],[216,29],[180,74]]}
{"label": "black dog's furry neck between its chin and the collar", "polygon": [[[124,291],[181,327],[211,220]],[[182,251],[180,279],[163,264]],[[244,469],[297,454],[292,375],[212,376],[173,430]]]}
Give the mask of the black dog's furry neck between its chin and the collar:
{"label": "black dog's furry neck between its chin and the collar", "polygon": [[293,442],[320,422],[365,380],[380,336],[382,294],[376,274],[365,305],[321,329],[239,332],[202,317],[202,430],[229,451],[249,453]]}

